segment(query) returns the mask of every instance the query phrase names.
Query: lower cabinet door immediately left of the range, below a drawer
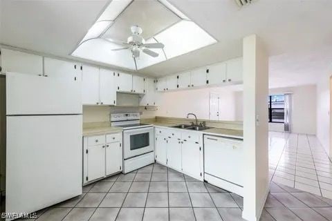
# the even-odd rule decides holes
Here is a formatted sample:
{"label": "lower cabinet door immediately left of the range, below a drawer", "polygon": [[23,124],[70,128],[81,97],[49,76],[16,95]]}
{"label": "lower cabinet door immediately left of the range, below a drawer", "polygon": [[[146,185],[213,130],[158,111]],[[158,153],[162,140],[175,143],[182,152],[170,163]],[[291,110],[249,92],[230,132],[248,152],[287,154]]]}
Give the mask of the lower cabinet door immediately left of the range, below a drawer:
{"label": "lower cabinet door immediately left of the range, below a drawer", "polygon": [[120,142],[106,144],[106,175],[122,170],[122,147]]}

